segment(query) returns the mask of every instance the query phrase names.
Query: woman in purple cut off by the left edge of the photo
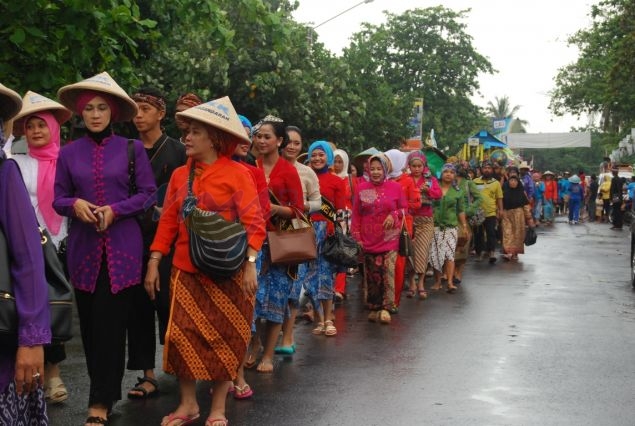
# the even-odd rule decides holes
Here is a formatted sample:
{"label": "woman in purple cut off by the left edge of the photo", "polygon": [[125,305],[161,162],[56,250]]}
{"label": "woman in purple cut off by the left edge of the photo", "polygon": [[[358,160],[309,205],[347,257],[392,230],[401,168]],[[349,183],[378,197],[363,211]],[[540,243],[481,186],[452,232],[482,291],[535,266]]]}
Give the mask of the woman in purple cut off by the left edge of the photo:
{"label": "woman in purple cut off by the left edge of the photo", "polygon": [[10,259],[9,271],[2,272],[10,272],[18,316],[17,341],[0,344],[0,424],[44,426],[44,345],[51,343],[44,257],[20,169],[2,150],[3,123],[21,106],[20,96],[0,84],[0,231],[6,239],[6,260]]}

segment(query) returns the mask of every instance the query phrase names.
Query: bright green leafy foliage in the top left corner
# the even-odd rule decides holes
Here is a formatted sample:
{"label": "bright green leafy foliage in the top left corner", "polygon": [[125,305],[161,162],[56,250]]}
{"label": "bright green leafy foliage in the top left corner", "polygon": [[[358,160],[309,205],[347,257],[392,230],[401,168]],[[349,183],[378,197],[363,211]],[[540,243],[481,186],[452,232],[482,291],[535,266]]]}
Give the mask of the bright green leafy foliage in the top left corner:
{"label": "bright green leafy foliage in the top left corner", "polygon": [[0,75],[24,93],[57,89],[101,71],[123,87],[139,79],[139,43],[159,37],[132,0],[28,0],[0,6]]}

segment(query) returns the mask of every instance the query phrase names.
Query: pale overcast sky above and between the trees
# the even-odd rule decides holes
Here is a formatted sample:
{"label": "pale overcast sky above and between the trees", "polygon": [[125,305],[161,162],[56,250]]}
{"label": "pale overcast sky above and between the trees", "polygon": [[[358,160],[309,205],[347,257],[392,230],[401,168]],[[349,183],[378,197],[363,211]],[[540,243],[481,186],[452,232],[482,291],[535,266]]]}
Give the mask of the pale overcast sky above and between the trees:
{"label": "pale overcast sky above and between the trees", "polygon": [[[299,22],[318,25],[361,0],[300,0],[294,13]],[[471,8],[467,32],[475,49],[498,70],[480,78],[480,95],[473,101],[486,106],[494,97],[508,96],[520,105],[518,117],[527,120],[532,133],[568,132],[586,124],[586,118],[557,117],[550,113],[549,92],[554,89],[558,68],[576,60],[575,46],[567,39],[591,24],[593,0],[445,0],[442,5],[456,11]],[[373,0],[321,25],[319,41],[335,53],[348,46],[349,37],[362,22],[385,22],[383,11],[400,14],[408,9],[439,5],[433,0]],[[425,118],[424,118],[425,120]]]}

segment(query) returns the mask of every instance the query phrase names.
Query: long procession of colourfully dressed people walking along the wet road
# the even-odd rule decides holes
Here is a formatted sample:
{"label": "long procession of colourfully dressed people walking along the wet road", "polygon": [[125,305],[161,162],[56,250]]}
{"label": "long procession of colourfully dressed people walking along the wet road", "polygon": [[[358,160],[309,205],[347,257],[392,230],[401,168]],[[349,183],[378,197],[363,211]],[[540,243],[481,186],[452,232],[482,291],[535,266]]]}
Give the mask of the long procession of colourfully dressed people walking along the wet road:
{"label": "long procession of colourfully dressed people walking along the wet road", "polygon": [[[527,227],[551,225],[556,214],[577,224],[589,211],[593,220],[599,198],[599,219],[610,208],[613,226],[622,226],[616,172],[587,184],[582,173],[556,180],[550,171],[532,173],[525,162],[470,167],[449,158],[434,173],[423,151],[351,155],[324,140],[305,144],[302,130],[279,117],[252,126],[229,98],[203,102],[192,93],[177,101],[181,134],[172,138],[162,130],[163,95],[143,88],[129,96],[107,73],[62,87],[58,98],[28,92],[21,99],[0,85],[0,123],[14,119],[0,139],[24,135],[28,147],[0,169],[0,230],[19,254],[12,272],[24,324],[17,347],[0,350],[0,404],[14,407],[0,412],[3,424],[47,424],[45,402],[69,397],[60,367],[64,346],[51,344],[48,330],[37,223],[65,252],[75,289],[90,380],[86,426],[107,424],[122,399],[126,368],[141,374],[128,398],[159,392],[155,312],[163,370],[178,378],[181,397],[162,426],[201,417],[198,380],[214,382],[205,425],[222,426],[226,396],[254,394],[244,370],[271,373],[276,354],[296,352],[300,310],[312,310],[313,335],[337,335],[333,310],[346,299],[347,275],[361,274],[368,320],[389,324],[402,294],[426,299],[428,291],[460,291],[470,256],[516,261]],[[73,114],[84,134],[62,144],[60,126]],[[132,122],[138,139],[115,134],[118,122]],[[8,208],[16,205],[33,206],[33,214]],[[244,227],[244,263],[231,277],[195,266],[188,228],[194,208]],[[307,216],[317,258],[272,263],[268,232]],[[361,247],[359,268],[324,256],[340,226]],[[400,253],[404,234],[412,255]],[[426,289],[427,276],[433,278]]]}

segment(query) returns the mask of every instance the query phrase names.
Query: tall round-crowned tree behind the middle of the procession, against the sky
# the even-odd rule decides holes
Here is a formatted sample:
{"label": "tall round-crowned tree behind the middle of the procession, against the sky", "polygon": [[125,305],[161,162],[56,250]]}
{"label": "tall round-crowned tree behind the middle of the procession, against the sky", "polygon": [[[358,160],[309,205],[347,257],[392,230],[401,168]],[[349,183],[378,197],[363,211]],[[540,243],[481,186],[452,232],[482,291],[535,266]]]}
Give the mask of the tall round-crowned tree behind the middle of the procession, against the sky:
{"label": "tall round-crowned tree behind the middle of the procession, against the sky", "polygon": [[[385,24],[365,25],[344,51],[344,60],[355,78],[377,83],[367,93],[381,89],[384,96],[390,96],[373,99],[380,102],[379,113],[391,117],[392,111],[397,110],[405,123],[412,100],[423,98],[424,133],[434,129],[441,145],[451,148],[457,148],[470,132],[486,123],[483,111],[471,102],[470,96],[479,89],[479,73],[493,72],[490,62],[476,52],[472,37],[465,31],[462,20],[468,12],[437,6],[401,15],[386,13]],[[374,127],[375,122],[369,123]],[[373,127],[364,133],[371,141],[381,137]],[[403,126],[383,129],[393,137],[408,136],[409,131]]]}

